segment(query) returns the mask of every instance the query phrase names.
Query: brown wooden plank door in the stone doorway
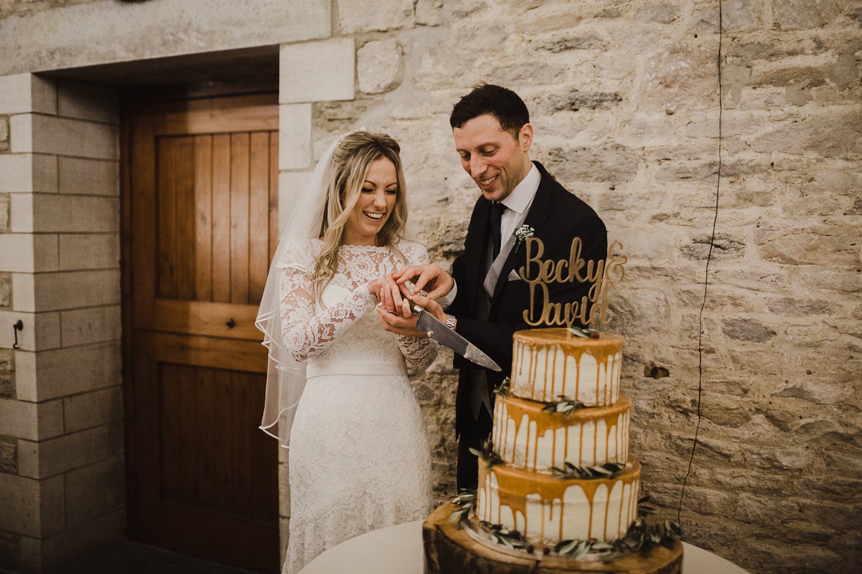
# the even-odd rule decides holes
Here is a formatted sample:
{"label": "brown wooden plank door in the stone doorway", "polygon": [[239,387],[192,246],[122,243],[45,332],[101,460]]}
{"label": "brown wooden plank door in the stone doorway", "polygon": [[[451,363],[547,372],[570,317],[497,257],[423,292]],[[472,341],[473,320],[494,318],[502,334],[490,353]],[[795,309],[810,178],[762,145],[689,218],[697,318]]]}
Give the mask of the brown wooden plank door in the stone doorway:
{"label": "brown wooden plank door in the stone doorway", "polygon": [[124,122],[129,535],[278,571],[278,444],[254,318],[278,240],[274,94]]}

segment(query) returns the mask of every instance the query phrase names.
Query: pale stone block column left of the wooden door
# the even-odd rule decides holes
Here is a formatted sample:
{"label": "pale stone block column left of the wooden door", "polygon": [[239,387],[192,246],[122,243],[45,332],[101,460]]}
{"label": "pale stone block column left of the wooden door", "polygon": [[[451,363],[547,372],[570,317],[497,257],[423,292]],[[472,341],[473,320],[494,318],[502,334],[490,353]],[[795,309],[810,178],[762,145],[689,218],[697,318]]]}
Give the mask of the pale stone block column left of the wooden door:
{"label": "pale stone block column left of the wooden door", "polygon": [[0,77],[0,567],[125,525],[117,124],[111,94]]}

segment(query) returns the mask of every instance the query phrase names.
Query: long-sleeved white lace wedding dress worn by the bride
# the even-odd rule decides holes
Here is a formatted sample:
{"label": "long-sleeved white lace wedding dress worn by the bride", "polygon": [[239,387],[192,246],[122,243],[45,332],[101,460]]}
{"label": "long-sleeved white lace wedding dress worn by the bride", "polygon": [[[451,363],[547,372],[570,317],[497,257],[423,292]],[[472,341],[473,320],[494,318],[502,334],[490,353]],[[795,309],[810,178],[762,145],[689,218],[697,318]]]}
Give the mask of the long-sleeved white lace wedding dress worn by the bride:
{"label": "long-sleeved white lace wedding dress worn by the bride", "polygon": [[[367,284],[403,265],[388,247],[341,246],[338,272],[311,297],[320,240],[290,246],[281,324],[295,359],[308,359],[308,382],[290,431],[290,541],[285,574],[318,554],[376,528],[415,521],[431,506],[430,452],[404,359],[427,367],[429,339],[387,333]],[[398,244],[410,264],[428,263],[425,247]]]}

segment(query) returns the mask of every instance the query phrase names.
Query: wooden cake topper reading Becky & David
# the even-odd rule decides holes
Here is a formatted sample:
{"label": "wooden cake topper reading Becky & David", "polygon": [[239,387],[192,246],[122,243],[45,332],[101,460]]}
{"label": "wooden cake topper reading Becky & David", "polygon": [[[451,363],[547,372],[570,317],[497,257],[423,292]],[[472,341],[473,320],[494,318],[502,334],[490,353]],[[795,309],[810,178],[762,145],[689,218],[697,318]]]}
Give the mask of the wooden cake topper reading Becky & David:
{"label": "wooden cake topper reading Becky & David", "polygon": [[[530,306],[524,309],[524,321],[531,327],[566,327],[580,321],[590,328],[599,328],[608,319],[611,286],[622,281],[623,265],[628,258],[620,253],[622,243],[614,241],[608,247],[608,259],[586,261],[581,257],[583,242],[572,240],[569,259],[542,259],[545,244],[537,237],[527,237],[527,264],[518,274],[530,286]],[[616,252],[616,253],[615,253]],[[553,303],[550,285],[554,283],[592,283],[580,301]],[[575,323],[575,327],[578,324]]]}

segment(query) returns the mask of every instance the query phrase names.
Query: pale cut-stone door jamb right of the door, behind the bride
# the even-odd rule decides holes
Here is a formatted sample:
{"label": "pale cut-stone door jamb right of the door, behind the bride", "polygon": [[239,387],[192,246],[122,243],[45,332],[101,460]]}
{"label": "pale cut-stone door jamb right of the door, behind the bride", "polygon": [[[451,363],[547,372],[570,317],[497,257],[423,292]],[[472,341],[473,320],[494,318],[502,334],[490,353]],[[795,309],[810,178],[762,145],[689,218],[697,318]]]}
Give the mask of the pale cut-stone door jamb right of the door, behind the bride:
{"label": "pale cut-stone door jamb right of the door, behind the bride", "polygon": [[[317,159],[311,126],[312,103],[353,99],[356,69],[353,38],[282,46],[279,67],[278,228],[283,230]],[[287,449],[280,449],[278,458],[282,563],[290,525],[287,453]]]}

